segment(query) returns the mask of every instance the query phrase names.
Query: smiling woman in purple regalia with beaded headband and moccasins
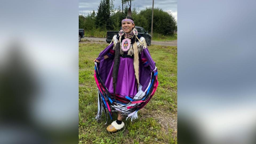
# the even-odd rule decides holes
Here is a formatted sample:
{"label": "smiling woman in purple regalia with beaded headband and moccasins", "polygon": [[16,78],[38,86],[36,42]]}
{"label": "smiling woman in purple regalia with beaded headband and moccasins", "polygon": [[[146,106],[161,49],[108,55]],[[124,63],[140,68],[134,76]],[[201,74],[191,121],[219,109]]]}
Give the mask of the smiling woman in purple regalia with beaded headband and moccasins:
{"label": "smiling woman in purple regalia with beaded headband and moccasins", "polygon": [[99,92],[96,118],[100,119],[102,111],[106,115],[107,109],[112,119],[112,111],[118,111],[117,120],[107,127],[115,132],[123,128],[124,117],[138,118],[137,111],[149,102],[158,86],[155,62],[132,17],[122,20],[122,30],[94,62]]}

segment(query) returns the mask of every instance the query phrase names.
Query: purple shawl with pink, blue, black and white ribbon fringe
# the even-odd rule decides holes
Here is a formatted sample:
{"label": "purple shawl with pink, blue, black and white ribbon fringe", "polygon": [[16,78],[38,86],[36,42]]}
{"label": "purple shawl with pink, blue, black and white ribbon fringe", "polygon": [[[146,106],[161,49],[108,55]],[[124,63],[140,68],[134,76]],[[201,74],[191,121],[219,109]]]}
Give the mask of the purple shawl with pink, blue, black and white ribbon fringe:
{"label": "purple shawl with pink, blue, black and white ribbon fringe", "polygon": [[[117,43],[117,39],[118,37],[115,35],[110,45],[107,46],[101,53],[99,53],[99,57],[96,58],[100,61],[100,63],[95,62],[94,77],[98,87],[98,113],[96,116],[97,120],[100,120],[102,111],[104,111],[106,117],[108,112],[111,119],[113,111],[119,111],[121,115],[126,116],[126,119],[131,118],[131,121],[138,118],[138,110],[144,107],[149,102],[158,86],[157,67],[155,67],[155,62],[149,54],[145,38],[140,37],[137,39],[139,53],[138,93],[134,96],[133,99],[126,97],[130,101],[128,103],[121,103],[119,101],[115,101],[114,98],[112,98],[105,86],[105,81],[113,64],[113,59],[104,59],[104,55],[106,55],[110,49],[113,49],[113,47]],[[149,66],[147,67],[144,67],[141,61],[142,51],[144,51],[147,62],[149,63]]]}

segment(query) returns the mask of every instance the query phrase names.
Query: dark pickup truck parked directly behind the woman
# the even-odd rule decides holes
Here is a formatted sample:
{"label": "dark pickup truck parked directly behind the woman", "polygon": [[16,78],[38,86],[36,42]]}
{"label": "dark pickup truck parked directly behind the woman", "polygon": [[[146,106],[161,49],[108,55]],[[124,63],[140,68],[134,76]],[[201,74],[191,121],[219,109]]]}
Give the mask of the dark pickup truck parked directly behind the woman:
{"label": "dark pickup truck parked directly behind the woman", "polygon": [[[142,27],[139,26],[135,26],[135,28],[138,30],[138,35],[141,35],[142,37],[144,37],[146,39],[147,45],[150,46],[151,45],[151,35],[145,31]],[[120,28],[120,30],[122,29],[122,27]],[[119,31],[107,31],[107,39],[106,42],[110,43],[113,39],[113,36],[115,34],[118,34]]]}

